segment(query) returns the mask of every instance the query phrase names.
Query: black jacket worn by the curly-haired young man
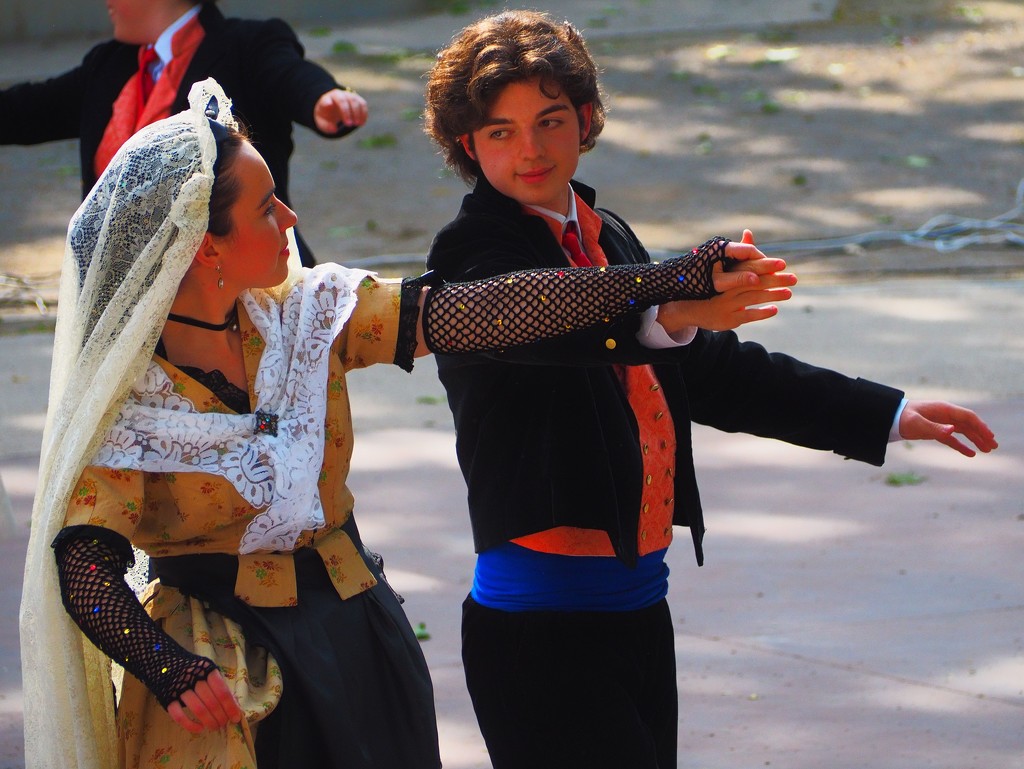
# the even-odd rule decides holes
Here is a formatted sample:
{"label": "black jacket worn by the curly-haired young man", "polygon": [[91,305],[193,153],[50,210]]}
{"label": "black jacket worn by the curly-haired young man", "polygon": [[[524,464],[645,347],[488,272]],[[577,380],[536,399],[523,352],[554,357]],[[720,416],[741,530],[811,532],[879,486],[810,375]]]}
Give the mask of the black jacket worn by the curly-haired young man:
{"label": "black jacket worn by the curly-haired young man", "polygon": [[[572,185],[594,205],[593,189]],[[609,264],[650,261],[621,218],[598,213]],[[566,264],[547,223],[482,177],[427,259],[446,281]],[[652,350],[636,341],[638,329],[634,314],[539,345],[437,356],[477,552],[565,525],[604,529],[616,556],[636,563],[643,465],[610,364],[654,364],[676,430],[673,522],[690,528],[698,564],[705,526],[691,420],[883,463],[899,390],[769,353],[732,332],[700,330],[687,346]]]}

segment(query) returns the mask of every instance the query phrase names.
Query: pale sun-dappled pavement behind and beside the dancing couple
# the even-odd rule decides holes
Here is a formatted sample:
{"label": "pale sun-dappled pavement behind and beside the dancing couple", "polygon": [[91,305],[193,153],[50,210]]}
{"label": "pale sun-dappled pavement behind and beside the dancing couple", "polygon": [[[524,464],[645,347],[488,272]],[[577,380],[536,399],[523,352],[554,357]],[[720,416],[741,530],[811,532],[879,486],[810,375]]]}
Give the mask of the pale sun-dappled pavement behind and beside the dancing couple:
{"label": "pale sun-dappled pavement behind and beside the dancing couple", "polygon": [[[402,34],[407,26],[388,32]],[[895,443],[880,469],[698,427],[707,564],[695,566],[685,536],[670,551],[680,766],[1024,766],[1024,281],[1006,277],[1005,259],[982,249],[970,275],[810,281],[777,318],[743,330],[913,396],[970,404],[1001,445],[967,460]],[[846,265],[791,261],[834,277]],[[51,334],[24,318],[4,329],[0,769],[14,769],[24,766],[16,614]],[[472,546],[442,388],[430,359],[412,376],[357,372],[350,388],[360,528],[430,635],[445,767],[484,769],[459,658]]]}

